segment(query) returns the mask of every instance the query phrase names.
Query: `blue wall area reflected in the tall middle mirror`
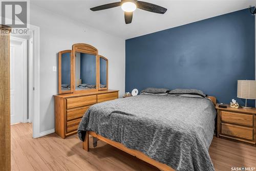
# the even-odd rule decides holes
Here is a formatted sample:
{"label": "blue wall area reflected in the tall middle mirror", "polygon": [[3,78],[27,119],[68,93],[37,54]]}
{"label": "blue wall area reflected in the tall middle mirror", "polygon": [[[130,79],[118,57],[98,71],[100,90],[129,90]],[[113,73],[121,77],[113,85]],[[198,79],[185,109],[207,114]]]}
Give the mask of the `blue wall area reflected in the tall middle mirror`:
{"label": "blue wall area reflected in the tall middle mirror", "polygon": [[96,57],[86,53],[80,54],[80,78],[82,83],[96,84]]}

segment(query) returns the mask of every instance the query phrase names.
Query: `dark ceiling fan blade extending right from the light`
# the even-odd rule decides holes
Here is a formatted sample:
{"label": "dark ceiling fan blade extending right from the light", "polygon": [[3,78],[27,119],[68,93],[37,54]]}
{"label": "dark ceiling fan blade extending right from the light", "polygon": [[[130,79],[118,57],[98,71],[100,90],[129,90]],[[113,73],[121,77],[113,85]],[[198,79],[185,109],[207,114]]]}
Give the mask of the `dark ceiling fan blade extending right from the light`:
{"label": "dark ceiling fan blade extending right from the light", "polygon": [[163,7],[155,5],[155,4],[146,3],[143,1],[137,1],[137,8],[145,10],[145,11],[159,13],[159,14],[164,14],[167,11],[166,8],[163,8]]}

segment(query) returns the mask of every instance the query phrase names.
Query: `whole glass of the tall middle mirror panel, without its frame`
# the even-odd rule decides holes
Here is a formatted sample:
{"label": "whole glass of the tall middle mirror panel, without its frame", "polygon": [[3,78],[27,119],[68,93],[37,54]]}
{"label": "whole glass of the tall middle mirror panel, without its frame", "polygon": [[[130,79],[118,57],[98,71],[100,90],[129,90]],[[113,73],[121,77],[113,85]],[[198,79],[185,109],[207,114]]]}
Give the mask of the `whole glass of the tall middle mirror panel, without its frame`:
{"label": "whole glass of the tall middle mirror panel, without its frame", "polygon": [[96,89],[96,56],[76,52],[75,90]]}

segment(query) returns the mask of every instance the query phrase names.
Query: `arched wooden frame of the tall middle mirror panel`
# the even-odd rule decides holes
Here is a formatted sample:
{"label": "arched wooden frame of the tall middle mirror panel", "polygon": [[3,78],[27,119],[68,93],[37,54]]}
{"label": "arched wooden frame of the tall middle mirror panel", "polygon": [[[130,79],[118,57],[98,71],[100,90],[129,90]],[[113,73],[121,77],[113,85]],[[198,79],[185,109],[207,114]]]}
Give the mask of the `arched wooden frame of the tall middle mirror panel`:
{"label": "arched wooden frame of the tall middle mirror panel", "polygon": [[96,48],[94,48],[93,46],[91,45],[88,45],[88,44],[74,44],[72,46],[72,58],[73,58],[73,83],[75,83],[75,68],[76,68],[76,63],[75,63],[75,55],[76,55],[76,52],[80,52],[80,53],[87,53],[87,54],[90,54],[90,55],[95,55],[96,57],[96,80],[95,80],[95,83],[96,83],[96,89],[90,89],[90,90],[76,90],[75,87],[73,87],[73,92],[74,93],[82,93],[82,92],[92,92],[92,91],[98,91],[98,50]]}

